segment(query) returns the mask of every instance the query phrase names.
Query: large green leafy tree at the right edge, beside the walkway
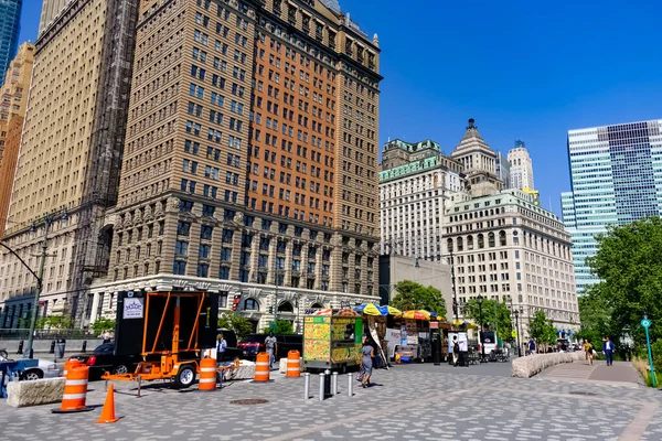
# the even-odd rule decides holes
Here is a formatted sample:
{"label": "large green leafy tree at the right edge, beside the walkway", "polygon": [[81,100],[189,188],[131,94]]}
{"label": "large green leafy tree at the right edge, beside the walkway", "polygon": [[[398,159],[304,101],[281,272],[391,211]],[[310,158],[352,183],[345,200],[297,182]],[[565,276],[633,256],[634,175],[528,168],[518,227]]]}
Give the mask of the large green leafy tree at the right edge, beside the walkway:
{"label": "large green leafy tree at the right edge, beside the walkway", "polygon": [[601,281],[586,292],[596,311],[606,314],[604,329],[596,331],[618,341],[622,330],[629,329],[642,345],[645,334],[639,322],[648,313],[653,319],[651,338],[662,337],[662,219],[655,216],[611,226],[597,241],[598,251],[587,263]]}

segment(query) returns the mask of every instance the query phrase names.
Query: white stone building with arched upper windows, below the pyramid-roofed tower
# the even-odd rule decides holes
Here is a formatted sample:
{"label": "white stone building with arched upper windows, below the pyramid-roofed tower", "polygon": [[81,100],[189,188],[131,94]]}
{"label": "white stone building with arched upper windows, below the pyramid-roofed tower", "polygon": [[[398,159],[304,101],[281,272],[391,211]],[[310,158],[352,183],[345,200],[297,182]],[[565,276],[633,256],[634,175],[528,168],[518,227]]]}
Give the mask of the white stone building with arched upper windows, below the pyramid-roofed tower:
{"label": "white stone building with arched upper windows, below the pyramid-roofed tower", "polygon": [[460,305],[478,295],[506,301],[523,312],[523,338],[537,310],[558,330],[578,330],[570,236],[553,213],[522,191],[504,190],[449,204],[444,222]]}

